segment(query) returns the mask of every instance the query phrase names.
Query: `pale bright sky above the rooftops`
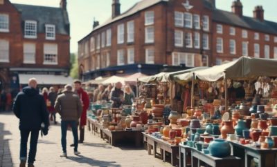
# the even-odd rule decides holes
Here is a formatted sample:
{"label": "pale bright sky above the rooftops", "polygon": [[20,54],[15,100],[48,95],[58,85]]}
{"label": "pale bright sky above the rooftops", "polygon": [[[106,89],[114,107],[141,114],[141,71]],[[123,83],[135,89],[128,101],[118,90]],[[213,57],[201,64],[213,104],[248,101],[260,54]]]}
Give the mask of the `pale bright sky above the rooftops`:
{"label": "pale bright sky above the rooftops", "polygon": [[[12,3],[28,5],[59,7],[60,0],[10,0]],[[140,0],[120,0],[121,12],[134,6]],[[152,0],[146,0],[152,1]],[[186,0],[184,0],[186,1]],[[193,0],[190,0],[193,1]],[[243,5],[243,14],[253,17],[255,6],[261,5],[265,10],[265,19],[277,22],[277,0],[240,0]],[[92,30],[93,18],[100,24],[111,17],[111,0],[67,0],[67,10],[71,23],[71,52],[78,51],[78,41],[87,36]],[[216,0],[216,7],[231,11],[233,0]]]}

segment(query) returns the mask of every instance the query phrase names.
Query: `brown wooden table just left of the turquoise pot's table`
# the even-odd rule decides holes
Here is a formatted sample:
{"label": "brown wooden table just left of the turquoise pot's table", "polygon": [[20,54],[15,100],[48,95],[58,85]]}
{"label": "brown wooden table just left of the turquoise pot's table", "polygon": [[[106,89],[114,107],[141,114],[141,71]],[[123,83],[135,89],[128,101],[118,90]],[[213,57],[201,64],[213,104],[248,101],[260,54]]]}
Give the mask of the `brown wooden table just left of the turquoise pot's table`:
{"label": "brown wooden table just left of the turquoise pot's table", "polygon": [[[166,161],[166,153],[170,153],[170,162],[172,166],[179,166],[179,146],[171,145],[167,141],[158,139],[152,135],[148,135],[143,132],[143,140],[147,142],[148,154],[153,155],[155,158]],[[160,148],[161,153],[157,153],[157,148]]]}

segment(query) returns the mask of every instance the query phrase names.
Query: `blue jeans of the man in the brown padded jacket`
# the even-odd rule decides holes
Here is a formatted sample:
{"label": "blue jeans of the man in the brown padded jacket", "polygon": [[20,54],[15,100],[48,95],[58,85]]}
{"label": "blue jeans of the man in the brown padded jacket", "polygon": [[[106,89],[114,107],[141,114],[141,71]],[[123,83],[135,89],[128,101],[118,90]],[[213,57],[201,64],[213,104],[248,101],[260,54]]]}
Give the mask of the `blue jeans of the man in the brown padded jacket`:
{"label": "blue jeans of the man in the brown padded jacket", "polygon": [[61,128],[62,128],[62,151],[66,153],[66,132],[67,127],[71,126],[72,133],[74,137],[74,151],[78,151],[78,128],[77,128],[77,121],[62,121]]}

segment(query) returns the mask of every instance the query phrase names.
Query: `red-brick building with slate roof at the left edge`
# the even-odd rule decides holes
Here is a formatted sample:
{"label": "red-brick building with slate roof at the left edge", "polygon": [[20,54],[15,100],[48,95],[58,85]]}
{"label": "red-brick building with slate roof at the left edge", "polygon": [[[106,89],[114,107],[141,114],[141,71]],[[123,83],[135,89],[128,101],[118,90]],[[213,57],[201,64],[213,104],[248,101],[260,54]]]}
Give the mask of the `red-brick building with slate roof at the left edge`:
{"label": "red-brick building with slate roof at the left edge", "polygon": [[60,8],[0,0],[0,89],[17,88],[27,75],[45,82],[68,75],[69,40],[66,0]]}

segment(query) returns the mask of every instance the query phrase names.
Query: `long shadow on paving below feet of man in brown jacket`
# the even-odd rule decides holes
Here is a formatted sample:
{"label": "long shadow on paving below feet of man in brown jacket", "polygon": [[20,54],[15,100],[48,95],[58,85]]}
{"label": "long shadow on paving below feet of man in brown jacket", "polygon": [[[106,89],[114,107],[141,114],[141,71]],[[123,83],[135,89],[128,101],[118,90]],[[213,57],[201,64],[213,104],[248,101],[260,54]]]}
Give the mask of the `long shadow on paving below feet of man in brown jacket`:
{"label": "long shadow on paving below feet of man in brown jacket", "polygon": [[92,159],[89,157],[84,157],[83,155],[78,155],[78,157],[67,157],[71,161],[76,161],[79,164],[88,164],[89,166],[113,166],[120,167],[120,165],[116,164],[116,161],[98,161],[96,159]]}

